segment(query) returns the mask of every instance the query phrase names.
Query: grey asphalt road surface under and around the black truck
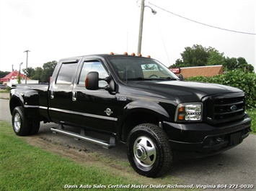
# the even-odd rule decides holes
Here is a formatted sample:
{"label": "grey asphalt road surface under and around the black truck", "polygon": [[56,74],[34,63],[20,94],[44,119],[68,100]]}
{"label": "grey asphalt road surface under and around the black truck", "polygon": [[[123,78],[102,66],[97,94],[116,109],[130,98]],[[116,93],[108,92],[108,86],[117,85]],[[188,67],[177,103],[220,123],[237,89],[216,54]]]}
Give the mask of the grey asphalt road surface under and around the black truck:
{"label": "grey asphalt road surface under and around the black truck", "polygon": [[[3,95],[2,95],[3,96]],[[0,94],[0,120],[11,122],[9,113],[9,100],[2,99]],[[87,150],[101,152],[102,154],[126,159],[125,145],[120,144],[114,149],[103,149],[101,146],[87,143],[85,141],[74,141],[71,137],[61,134],[53,134],[50,127],[56,124],[41,124],[40,136],[48,139],[57,139],[75,148],[86,147]],[[250,190],[242,189],[241,185],[253,185],[255,190],[256,182],[256,136],[250,134],[242,144],[222,154],[202,159],[185,159],[173,162],[172,168],[167,176],[176,177],[183,185],[220,186],[223,189],[217,190]],[[237,187],[237,189],[234,189]],[[231,189],[228,189],[231,188]],[[209,190],[209,189],[207,189]],[[216,189],[215,189],[216,190]]]}

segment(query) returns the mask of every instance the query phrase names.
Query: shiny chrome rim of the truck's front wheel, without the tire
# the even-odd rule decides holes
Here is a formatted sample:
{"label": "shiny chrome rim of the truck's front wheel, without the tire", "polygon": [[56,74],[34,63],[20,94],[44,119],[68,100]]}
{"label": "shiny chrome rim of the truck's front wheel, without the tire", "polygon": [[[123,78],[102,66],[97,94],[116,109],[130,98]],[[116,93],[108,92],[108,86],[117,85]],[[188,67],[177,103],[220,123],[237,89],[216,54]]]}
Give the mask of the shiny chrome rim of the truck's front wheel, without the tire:
{"label": "shiny chrome rim of the truck's front wheel, without the tire", "polygon": [[156,146],[149,137],[138,137],[133,144],[133,153],[138,164],[143,167],[151,167],[156,161]]}

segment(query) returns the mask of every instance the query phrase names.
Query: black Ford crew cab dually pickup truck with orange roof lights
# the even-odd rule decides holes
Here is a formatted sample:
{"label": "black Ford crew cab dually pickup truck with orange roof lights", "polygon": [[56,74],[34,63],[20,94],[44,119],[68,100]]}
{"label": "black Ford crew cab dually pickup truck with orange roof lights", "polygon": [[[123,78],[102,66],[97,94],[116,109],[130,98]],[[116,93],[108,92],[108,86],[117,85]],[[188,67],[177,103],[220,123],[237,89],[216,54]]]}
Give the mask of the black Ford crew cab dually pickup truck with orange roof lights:
{"label": "black Ford crew cab dually pickup truck with orange roof lights", "polygon": [[150,57],[110,54],[60,60],[50,84],[13,85],[9,108],[19,136],[43,121],[105,148],[123,142],[133,169],[158,177],[178,152],[203,157],[240,144],[251,131],[244,102],[237,88],[180,80]]}

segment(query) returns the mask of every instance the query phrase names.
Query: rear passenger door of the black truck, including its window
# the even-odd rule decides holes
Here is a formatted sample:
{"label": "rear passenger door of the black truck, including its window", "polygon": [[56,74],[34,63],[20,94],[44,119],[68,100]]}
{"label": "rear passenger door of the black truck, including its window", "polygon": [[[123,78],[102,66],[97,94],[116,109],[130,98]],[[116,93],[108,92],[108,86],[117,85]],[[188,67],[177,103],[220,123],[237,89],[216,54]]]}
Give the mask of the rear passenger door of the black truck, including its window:
{"label": "rear passenger door of the black truck, including its window", "polygon": [[53,122],[72,120],[72,90],[79,58],[61,60],[53,73],[49,89],[49,115]]}

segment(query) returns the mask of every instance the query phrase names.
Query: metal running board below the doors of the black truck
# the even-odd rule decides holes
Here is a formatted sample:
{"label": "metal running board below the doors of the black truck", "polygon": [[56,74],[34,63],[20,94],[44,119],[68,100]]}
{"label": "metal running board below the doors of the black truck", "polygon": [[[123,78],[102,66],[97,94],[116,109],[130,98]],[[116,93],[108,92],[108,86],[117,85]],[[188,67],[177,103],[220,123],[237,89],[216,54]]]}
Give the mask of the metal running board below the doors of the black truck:
{"label": "metal running board below the doors of the black truck", "polygon": [[76,133],[73,133],[71,131],[66,131],[64,129],[50,128],[50,130],[55,132],[55,133],[58,133],[58,134],[64,134],[64,135],[67,135],[67,136],[74,137],[75,139],[81,139],[81,140],[84,140],[84,141],[89,141],[91,143],[101,145],[105,149],[111,149],[111,148],[116,146],[115,145],[115,137],[113,137],[113,136],[110,137],[110,142],[107,143],[106,141],[103,141],[103,140],[100,140],[100,139],[96,139],[96,138],[92,138],[92,137],[89,137],[89,136],[76,134]]}

